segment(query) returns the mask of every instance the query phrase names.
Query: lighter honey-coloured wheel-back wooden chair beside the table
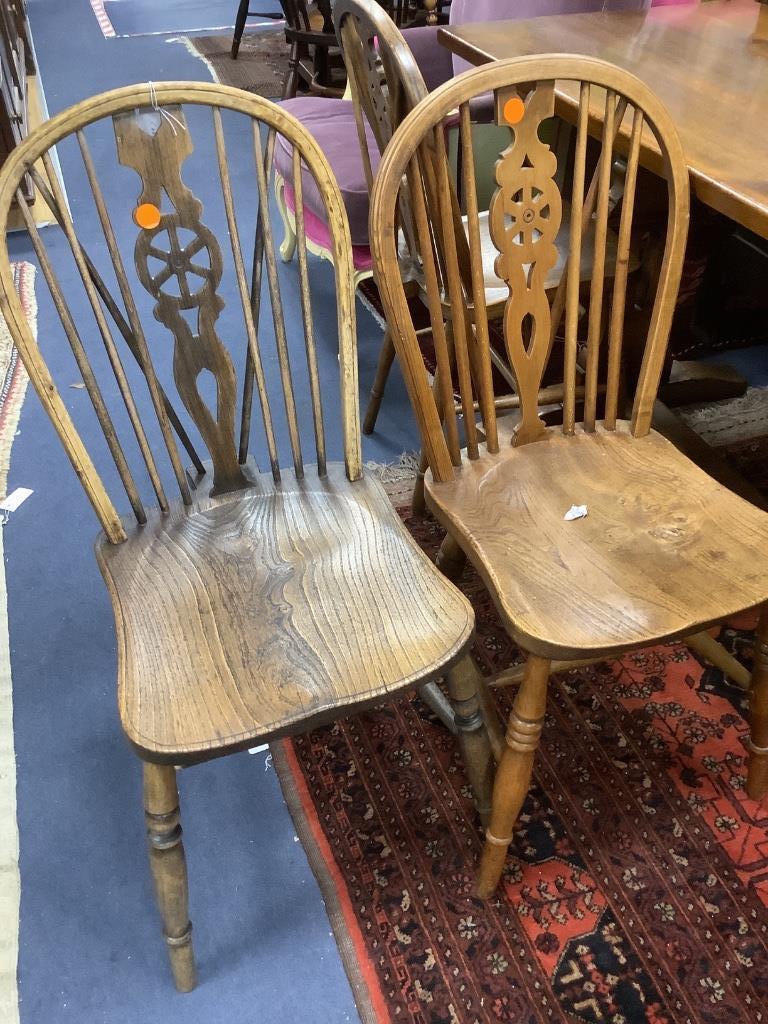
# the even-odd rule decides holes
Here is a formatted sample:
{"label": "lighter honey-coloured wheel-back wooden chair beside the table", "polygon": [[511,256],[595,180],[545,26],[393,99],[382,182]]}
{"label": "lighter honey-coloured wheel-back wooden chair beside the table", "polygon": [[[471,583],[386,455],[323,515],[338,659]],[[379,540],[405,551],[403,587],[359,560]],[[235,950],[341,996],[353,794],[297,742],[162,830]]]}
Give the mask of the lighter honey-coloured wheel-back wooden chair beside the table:
{"label": "lighter honey-coloured wheel-back wooden chair beside the table", "polygon": [[[519,384],[519,418],[512,430],[497,421],[494,404],[468,130],[469,103],[487,91],[495,96],[498,124],[509,130],[509,144],[496,165],[489,228],[497,272],[507,284],[506,350]],[[469,294],[457,256],[442,132],[444,119],[456,110],[465,157]],[[555,110],[577,121],[566,196],[557,183],[555,155],[540,135]],[[586,170],[590,133],[600,141],[592,175]],[[626,157],[627,177],[616,272],[608,289],[603,268],[615,152]],[[641,155],[666,181],[668,216],[641,368],[630,386],[632,381],[623,380],[623,343]],[[397,209],[404,189],[424,259],[437,393],[427,381],[397,272]],[[521,680],[517,673],[503,680],[519,681],[519,689],[505,739],[495,744],[500,763],[479,868],[482,896],[499,882],[529,785],[553,668],[700,635],[744,609],[759,609],[746,793],[758,800],[768,791],[768,515],[715,482],[650,426],[680,281],[688,193],[677,131],[651,90],[601,60],[568,55],[493,62],[443,86],[397,129],[376,179],[371,213],[376,280],[428,459],[427,503],[446,530],[442,562],[456,572],[464,555],[471,560],[526,658]],[[550,296],[545,280],[558,258],[555,239],[566,199],[567,264]],[[595,261],[588,323],[580,337],[579,262],[588,234]],[[443,327],[437,248],[452,306],[453,353]],[[563,315],[563,421],[546,426],[539,388]],[[580,357],[585,393],[578,419]],[[604,393],[598,388],[601,367]],[[464,438],[454,387],[464,408]],[[575,517],[573,506],[583,507]]]}

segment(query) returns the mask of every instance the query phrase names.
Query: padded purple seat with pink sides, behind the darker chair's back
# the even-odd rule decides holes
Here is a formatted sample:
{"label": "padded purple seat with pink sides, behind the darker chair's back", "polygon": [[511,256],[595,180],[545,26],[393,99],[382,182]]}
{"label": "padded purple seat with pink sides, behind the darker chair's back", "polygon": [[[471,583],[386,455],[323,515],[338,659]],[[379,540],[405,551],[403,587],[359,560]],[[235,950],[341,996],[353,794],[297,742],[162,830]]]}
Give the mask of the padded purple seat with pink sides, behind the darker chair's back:
{"label": "padded purple seat with pink sides, behind the darker chair's back", "polygon": [[[323,150],[331,170],[339,182],[341,196],[349,218],[349,231],[353,246],[368,245],[369,195],[366,171],[362,166],[357,127],[350,99],[331,99],[325,96],[296,96],[284,99],[281,106],[298,118],[304,128],[315,138]],[[379,147],[370,126],[366,126],[368,152],[371,154],[371,168],[376,174],[379,167]],[[274,142],[274,169],[288,182],[293,183],[293,153],[291,146],[278,135]],[[326,220],[326,212],[314,179],[305,169],[301,183],[304,189],[304,205],[319,220]]]}

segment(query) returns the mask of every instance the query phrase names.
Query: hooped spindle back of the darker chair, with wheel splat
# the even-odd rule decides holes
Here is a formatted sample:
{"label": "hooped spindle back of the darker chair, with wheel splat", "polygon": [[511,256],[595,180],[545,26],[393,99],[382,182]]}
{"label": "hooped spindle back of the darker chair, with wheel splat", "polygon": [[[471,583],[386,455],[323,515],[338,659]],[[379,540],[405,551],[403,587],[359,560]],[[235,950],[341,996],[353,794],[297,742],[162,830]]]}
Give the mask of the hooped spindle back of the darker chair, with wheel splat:
{"label": "hooped spindle back of the darker chair, with wheel splat", "polygon": [[[185,109],[193,106],[210,111],[211,123],[207,128],[214,140],[215,165],[206,167],[206,174],[214,181],[218,179],[217,200],[223,207],[228,236],[221,242],[206,223],[203,205],[184,180],[184,165],[187,161],[191,163],[196,130],[202,125],[198,115],[187,120]],[[250,136],[252,186],[248,204],[242,204],[242,215],[227,161],[222,111],[242,115],[236,119],[240,122],[239,129],[244,129],[239,139]],[[195,128],[191,120],[195,120]],[[87,129],[96,122],[108,125],[111,122],[113,129],[109,159],[104,156],[103,131],[96,139],[101,180],[86,138]],[[287,317],[283,307],[269,213],[267,177],[275,132],[294,146],[301,309],[300,317],[295,318]],[[79,150],[80,172],[87,179],[88,200],[79,203],[75,213],[70,211],[52,159],[53,146],[63,152],[62,143],[67,140]],[[68,151],[68,160],[69,156]],[[93,358],[95,338],[100,338],[105,350],[125,407],[121,416],[127,416],[130,421],[135,435],[132,446],[141,455],[163,512],[169,509],[163,482],[169,464],[184,505],[194,503],[196,485],[203,480],[206,481],[206,497],[251,485],[253,457],[249,465],[249,446],[254,393],[260,408],[260,431],[265,446],[265,458],[256,454],[257,467],[271,470],[274,484],[279,484],[282,467],[286,464],[285,453],[279,450],[281,431],[275,426],[280,406],[293,472],[298,478],[304,476],[307,446],[302,445],[297,412],[297,404],[303,397],[302,392],[297,392],[299,370],[306,381],[311,406],[311,461],[316,463],[316,470],[313,468],[311,472],[319,476],[326,474],[325,420],[304,238],[300,164],[308,168],[317,183],[332,237],[344,459],[347,476],[354,480],[361,474],[361,456],[349,228],[326,158],[311,135],[290,114],[260,96],[220,85],[171,82],[129,86],[88,99],[46,122],[13,152],[0,173],[0,233],[5,239],[8,211],[15,199],[118,475],[139,523],[146,519],[140,486],[136,482],[139,476],[135,467],[129,465],[114,411],[105,398],[114,392],[115,385],[112,381],[109,385],[99,382],[98,358]],[[123,210],[114,208],[114,196],[113,209],[109,209],[101,181],[111,167],[114,173],[122,167],[138,175],[138,188],[125,196]],[[238,174],[242,179],[240,162]],[[87,322],[80,323],[83,318],[75,313],[78,306],[74,296],[66,296],[65,284],[54,268],[51,253],[60,239],[59,232],[55,228],[39,230],[24,199],[27,175],[45,197],[66,237],[67,248],[87,298],[86,308],[92,316]],[[135,186],[135,178],[131,185]],[[125,208],[133,211],[132,220],[125,215]],[[79,232],[75,221],[80,225],[89,215],[96,229]],[[82,241],[86,236],[87,241]],[[129,267],[130,255],[134,266]],[[112,276],[116,285],[111,285],[105,280],[108,276]],[[237,328],[232,327],[231,310],[227,310],[225,329],[217,326],[225,307],[223,279],[231,286],[226,296],[228,305],[231,310],[240,307]],[[271,315],[265,315],[261,309],[265,303]],[[0,310],[108,538],[116,543],[124,540],[125,529],[116,503],[96,470],[94,458],[76,428],[24,316],[13,289],[5,244],[0,247]],[[267,350],[267,336],[270,350]],[[124,365],[123,342],[138,364],[140,374],[131,374],[133,368]],[[175,395],[164,386],[156,366],[161,349],[167,352],[169,346],[173,350]],[[280,387],[269,386],[265,369],[269,361],[276,362]],[[236,370],[239,362],[244,364],[240,382]],[[299,367],[299,362],[303,366]],[[132,389],[131,376],[138,376],[139,386],[146,393],[139,394]],[[152,427],[142,416],[142,411],[152,415],[150,406],[154,407],[157,417],[157,425]],[[151,441],[153,436],[157,437],[158,428],[162,437],[160,452]],[[198,454],[196,435],[210,457],[210,472]],[[181,449],[185,453],[183,458]],[[186,468],[187,462],[191,472]]]}

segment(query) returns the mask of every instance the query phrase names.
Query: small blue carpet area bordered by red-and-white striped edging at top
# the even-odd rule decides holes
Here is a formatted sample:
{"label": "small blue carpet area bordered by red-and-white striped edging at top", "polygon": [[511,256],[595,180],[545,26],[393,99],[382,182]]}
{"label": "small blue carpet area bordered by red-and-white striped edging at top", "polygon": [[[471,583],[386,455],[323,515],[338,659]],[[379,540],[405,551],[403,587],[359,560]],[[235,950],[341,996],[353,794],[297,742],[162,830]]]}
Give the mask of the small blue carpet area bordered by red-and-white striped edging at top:
{"label": "small blue carpet area bordered by red-and-white striped edging at top", "polygon": [[[238,0],[108,0],[104,4],[118,36],[143,36],[156,33],[210,32],[231,28],[238,12]],[[276,0],[253,0],[251,10],[281,13]],[[249,18],[250,27],[259,25]],[[272,25],[270,18],[262,24]]]}

